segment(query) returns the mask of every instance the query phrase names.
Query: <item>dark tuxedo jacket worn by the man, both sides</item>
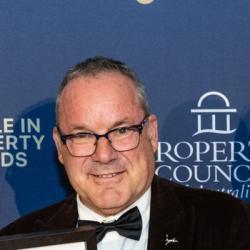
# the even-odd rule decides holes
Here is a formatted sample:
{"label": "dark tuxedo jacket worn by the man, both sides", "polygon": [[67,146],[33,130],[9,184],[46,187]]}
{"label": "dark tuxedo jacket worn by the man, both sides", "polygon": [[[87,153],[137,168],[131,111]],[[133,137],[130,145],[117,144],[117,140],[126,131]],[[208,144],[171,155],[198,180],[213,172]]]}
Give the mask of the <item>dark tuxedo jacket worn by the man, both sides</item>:
{"label": "dark tuxedo jacket worn by the man, both sides", "polygon": [[[77,219],[72,195],[18,219],[0,235],[72,228]],[[191,189],[155,176],[148,250],[168,249],[250,250],[250,206],[223,193]]]}

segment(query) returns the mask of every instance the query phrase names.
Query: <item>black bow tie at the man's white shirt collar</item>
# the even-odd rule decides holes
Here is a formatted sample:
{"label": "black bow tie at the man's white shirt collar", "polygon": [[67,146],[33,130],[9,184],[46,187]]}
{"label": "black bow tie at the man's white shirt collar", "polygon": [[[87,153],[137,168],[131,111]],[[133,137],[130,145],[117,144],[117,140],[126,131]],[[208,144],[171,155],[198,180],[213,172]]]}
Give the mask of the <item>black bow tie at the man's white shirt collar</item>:
{"label": "black bow tie at the man's white shirt collar", "polygon": [[139,240],[142,230],[142,219],[139,209],[134,207],[114,222],[99,223],[91,220],[79,220],[78,226],[93,226],[96,229],[97,242],[101,241],[109,231],[117,231],[124,237]]}

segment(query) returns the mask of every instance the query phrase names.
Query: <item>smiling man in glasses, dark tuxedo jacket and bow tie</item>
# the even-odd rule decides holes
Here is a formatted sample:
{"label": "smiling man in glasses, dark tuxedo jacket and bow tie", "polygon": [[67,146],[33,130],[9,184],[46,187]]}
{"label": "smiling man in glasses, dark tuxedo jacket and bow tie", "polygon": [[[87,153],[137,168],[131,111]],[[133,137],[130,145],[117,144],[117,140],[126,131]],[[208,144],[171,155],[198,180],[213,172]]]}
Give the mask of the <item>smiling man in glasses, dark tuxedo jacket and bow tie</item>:
{"label": "smiling man in glasses, dark tuxedo jacket and bow tie", "polygon": [[250,249],[247,204],[154,175],[157,118],[125,64],[96,57],[76,65],[61,84],[56,115],[58,159],[77,195],[17,220],[1,235],[91,224],[98,249]]}

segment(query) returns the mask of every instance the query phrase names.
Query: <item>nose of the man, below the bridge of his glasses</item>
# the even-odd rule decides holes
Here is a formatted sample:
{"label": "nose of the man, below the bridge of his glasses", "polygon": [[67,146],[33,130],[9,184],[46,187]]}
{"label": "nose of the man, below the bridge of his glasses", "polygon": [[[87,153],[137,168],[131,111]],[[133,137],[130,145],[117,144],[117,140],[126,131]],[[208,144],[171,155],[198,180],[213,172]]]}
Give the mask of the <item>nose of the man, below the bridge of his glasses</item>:
{"label": "nose of the man, below the bridge of his glasses", "polygon": [[106,164],[117,158],[117,151],[112,148],[106,137],[99,138],[96,143],[96,150],[92,155],[94,161]]}

